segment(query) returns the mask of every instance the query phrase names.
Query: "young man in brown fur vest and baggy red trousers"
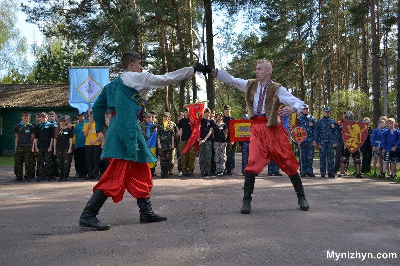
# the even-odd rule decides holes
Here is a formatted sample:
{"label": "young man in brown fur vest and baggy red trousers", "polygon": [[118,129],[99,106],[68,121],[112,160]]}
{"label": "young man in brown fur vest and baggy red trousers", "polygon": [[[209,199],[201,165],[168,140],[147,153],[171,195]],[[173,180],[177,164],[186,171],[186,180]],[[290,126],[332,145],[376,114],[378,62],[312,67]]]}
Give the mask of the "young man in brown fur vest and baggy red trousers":
{"label": "young man in brown fur vest and baggy red trousers", "polygon": [[[212,69],[209,66],[204,67],[203,73],[210,73],[220,81],[243,91],[249,117],[253,120],[248,165],[244,169],[244,197],[240,212],[250,213],[255,176],[271,159],[289,175],[297,193],[298,204],[301,209],[308,210],[304,187],[297,172],[299,163],[293,154],[283,126],[279,123],[279,114],[288,116],[293,112],[299,112],[304,102],[290,94],[282,85],[271,80],[272,63],[267,60],[257,62],[256,79],[235,78],[223,70]],[[286,104],[287,107],[279,109],[281,103]]]}

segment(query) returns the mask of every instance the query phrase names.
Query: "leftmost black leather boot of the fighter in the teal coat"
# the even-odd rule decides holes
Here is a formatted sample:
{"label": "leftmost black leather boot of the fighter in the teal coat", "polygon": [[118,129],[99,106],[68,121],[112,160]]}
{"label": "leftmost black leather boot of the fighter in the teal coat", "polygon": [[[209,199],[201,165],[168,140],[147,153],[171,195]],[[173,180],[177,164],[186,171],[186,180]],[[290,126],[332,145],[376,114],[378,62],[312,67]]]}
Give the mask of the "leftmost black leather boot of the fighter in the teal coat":
{"label": "leftmost black leather boot of the fighter in the teal coat", "polygon": [[104,195],[103,191],[101,189],[97,189],[87,202],[86,207],[80,216],[79,225],[82,227],[92,227],[101,230],[109,229],[111,225],[101,222],[96,217],[98,211],[100,211],[107,199],[108,197]]}

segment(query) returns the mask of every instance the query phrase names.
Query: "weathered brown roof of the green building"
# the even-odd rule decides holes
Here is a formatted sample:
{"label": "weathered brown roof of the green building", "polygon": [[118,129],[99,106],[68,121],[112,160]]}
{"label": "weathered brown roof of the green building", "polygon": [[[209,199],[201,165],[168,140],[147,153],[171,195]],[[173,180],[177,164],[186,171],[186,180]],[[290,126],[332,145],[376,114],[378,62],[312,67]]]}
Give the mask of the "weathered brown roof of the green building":
{"label": "weathered brown roof of the green building", "polygon": [[71,107],[69,84],[0,85],[0,108]]}

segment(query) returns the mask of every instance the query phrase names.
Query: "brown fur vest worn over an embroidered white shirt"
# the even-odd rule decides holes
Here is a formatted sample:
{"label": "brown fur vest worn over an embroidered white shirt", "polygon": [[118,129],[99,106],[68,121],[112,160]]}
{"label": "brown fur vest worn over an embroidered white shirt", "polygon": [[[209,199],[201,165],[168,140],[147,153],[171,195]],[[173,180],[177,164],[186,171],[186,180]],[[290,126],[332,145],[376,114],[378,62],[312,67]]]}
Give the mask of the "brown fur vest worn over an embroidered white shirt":
{"label": "brown fur vest worn over an embroidered white shirt", "polygon": [[[270,84],[265,93],[265,116],[268,119],[266,126],[276,126],[280,123],[278,110],[280,107],[280,99],[278,97],[279,83],[273,82]],[[258,89],[258,79],[249,79],[247,83],[247,91],[245,93],[245,100],[247,104],[248,117],[253,118],[256,113],[253,110],[254,94]]]}

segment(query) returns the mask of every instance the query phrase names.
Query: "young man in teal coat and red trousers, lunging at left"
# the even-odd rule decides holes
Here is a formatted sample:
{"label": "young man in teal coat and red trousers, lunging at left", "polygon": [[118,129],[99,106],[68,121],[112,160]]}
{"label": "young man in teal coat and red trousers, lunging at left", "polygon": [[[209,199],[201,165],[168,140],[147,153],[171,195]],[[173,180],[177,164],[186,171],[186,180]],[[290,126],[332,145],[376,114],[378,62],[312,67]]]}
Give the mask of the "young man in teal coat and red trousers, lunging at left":
{"label": "young man in teal coat and red trousers, lunging at left", "polygon": [[123,198],[125,189],[137,199],[140,223],[165,221],[152,211],[149,193],[152,188],[149,162],[157,161],[141,133],[136,119],[144,98],[152,88],[163,88],[191,77],[202,65],[185,67],[165,75],[142,72],[141,57],[136,52],[125,52],[121,57],[123,74],[106,85],[93,106],[96,131],[104,128],[104,114],[110,110],[109,123],[101,158],[109,167],[94,186],[94,194],[83,210],[79,224],[83,227],[108,229],[111,226],[97,219],[100,208],[108,197],[115,203]]}

